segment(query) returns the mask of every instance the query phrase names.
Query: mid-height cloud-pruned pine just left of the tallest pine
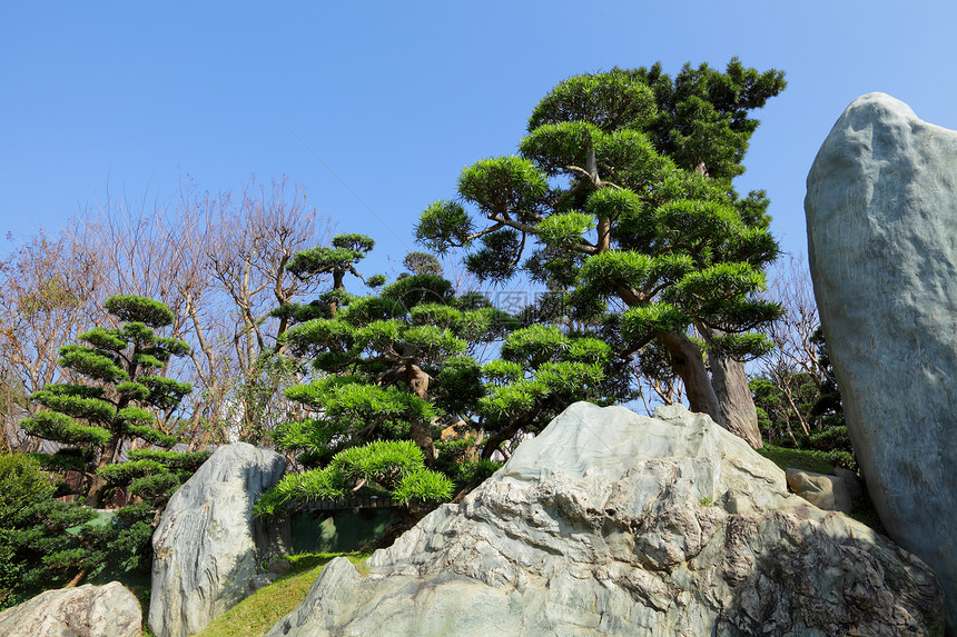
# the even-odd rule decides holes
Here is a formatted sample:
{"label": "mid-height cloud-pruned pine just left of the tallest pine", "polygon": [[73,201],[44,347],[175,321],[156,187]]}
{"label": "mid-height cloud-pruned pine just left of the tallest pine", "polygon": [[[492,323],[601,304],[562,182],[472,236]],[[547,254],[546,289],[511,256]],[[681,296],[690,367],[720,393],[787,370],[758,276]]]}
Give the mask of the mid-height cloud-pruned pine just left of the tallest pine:
{"label": "mid-height cloud-pruned pine just left of the tallest pine", "polygon": [[475,352],[515,321],[481,295],[457,297],[434,256],[413,252],[404,265],[411,271],[377,295],[320,295],[312,318],[293,316],[282,345],[312,360],[313,376],[286,397],[308,416],[282,425],[274,440],[314,469],[267,494],[264,515],[310,498],[343,499],[355,488],[401,502],[441,501],[491,472],[475,457],[477,428],[463,442],[471,452],[455,461],[433,439],[443,422],[475,414],[485,392]]}

